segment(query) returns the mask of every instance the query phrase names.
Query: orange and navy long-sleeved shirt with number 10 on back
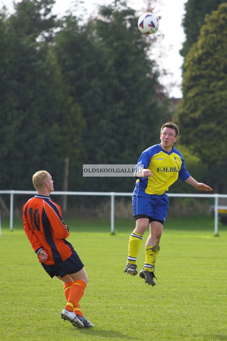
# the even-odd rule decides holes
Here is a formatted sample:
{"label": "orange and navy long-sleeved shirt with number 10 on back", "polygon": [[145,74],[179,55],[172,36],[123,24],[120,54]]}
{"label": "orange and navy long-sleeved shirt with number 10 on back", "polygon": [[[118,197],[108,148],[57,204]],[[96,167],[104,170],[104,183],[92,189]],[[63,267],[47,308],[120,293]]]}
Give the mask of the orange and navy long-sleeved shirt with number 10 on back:
{"label": "orange and navy long-sleeved shirt with number 10 on back", "polygon": [[[64,225],[59,205],[49,196],[36,194],[23,207],[24,230],[33,250],[48,253],[46,265],[65,261],[72,254],[72,245],[65,240],[69,229]],[[39,260],[39,262],[41,262]]]}

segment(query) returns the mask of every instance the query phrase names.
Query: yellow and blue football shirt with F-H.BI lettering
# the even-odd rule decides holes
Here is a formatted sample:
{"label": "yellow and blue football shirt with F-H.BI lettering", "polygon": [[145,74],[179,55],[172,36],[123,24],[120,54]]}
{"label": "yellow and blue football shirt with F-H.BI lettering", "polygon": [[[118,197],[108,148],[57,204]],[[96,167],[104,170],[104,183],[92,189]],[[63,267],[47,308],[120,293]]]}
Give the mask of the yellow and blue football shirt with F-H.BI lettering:
{"label": "yellow and blue football shirt with F-H.BI lettering", "polygon": [[161,144],[147,148],[137,162],[136,168],[150,169],[152,176],[136,178],[136,187],[147,194],[163,194],[179,177],[185,181],[190,177],[181,153],[173,147],[168,153]]}

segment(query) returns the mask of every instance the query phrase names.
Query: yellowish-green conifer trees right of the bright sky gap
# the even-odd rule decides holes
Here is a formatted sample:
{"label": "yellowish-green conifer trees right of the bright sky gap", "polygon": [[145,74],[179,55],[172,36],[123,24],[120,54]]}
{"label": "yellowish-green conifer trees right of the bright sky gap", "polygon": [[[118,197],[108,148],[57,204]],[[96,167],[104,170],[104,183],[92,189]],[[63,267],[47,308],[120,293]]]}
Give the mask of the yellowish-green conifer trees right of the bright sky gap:
{"label": "yellowish-green conifer trees right of the bright sky gap", "polygon": [[185,9],[183,98],[173,119],[202,177],[227,193],[227,3],[188,0]]}

